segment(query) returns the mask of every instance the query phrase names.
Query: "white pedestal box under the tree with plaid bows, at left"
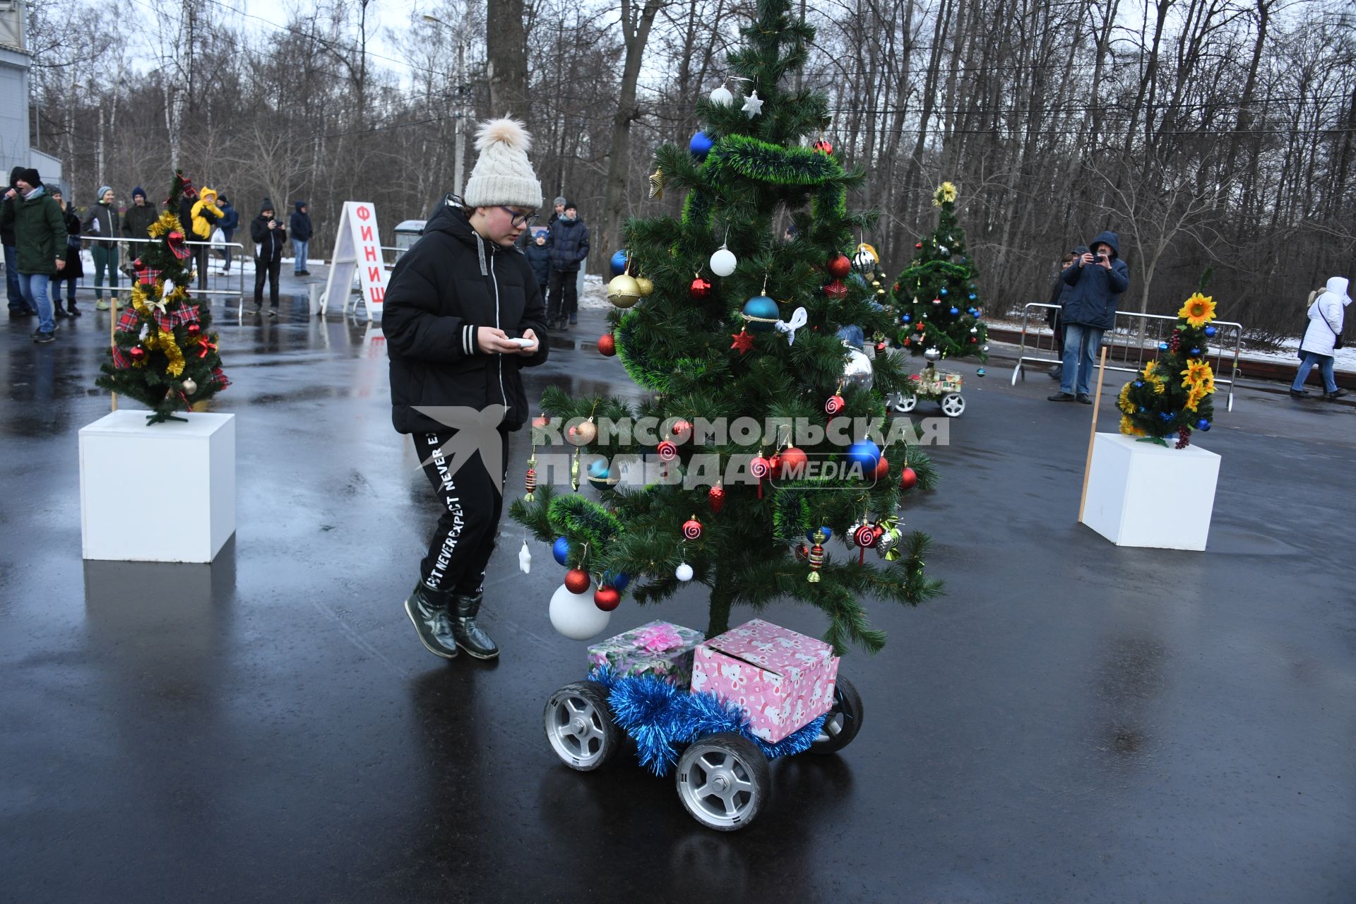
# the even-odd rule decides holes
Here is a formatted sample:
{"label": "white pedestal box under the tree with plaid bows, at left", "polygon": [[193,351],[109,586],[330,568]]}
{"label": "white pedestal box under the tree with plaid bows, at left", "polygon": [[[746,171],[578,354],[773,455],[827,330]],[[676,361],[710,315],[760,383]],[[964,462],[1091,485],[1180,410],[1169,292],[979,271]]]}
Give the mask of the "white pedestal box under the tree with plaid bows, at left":
{"label": "white pedestal box under the tree with plaid bows, at left", "polygon": [[210,562],[236,533],[236,416],[146,426],[121,409],[80,428],[85,558]]}

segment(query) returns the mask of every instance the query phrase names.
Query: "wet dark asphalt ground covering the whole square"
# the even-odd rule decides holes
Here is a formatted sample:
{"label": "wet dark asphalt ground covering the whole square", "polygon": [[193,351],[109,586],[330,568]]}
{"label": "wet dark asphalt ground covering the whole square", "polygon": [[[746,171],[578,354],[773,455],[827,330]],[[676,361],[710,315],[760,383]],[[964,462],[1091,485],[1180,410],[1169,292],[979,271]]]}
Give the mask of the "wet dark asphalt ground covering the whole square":
{"label": "wet dark asphalt ground covering the whole square", "polygon": [[[239,530],[210,567],[81,562],[107,314],[85,302],[46,347],[0,328],[0,899],[1356,900],[1352,407],[1243,389],[1200,438],[1223,455],[1210,549],[1117,549],[1075,523],[1090,409],[961,365],[942,487],[904,510],[948,595],[872,606],[890,642],[842,665],[861,735],[776,762],[770,808],[719,835],[671,779],[553,758],[542,703],[583,645],[551,629],[560,569],[534,543],[521,575],[511,523],[484,618],[502,660],[419,646],[400,600],[435,511],[385,351],[292,301],[263,323],[214,308]],[[548,384],[631,392],[582,351],[529,396]],[[191,462],[127,466],[136,518]],[[702,609],[628,600],[610,633]]]}

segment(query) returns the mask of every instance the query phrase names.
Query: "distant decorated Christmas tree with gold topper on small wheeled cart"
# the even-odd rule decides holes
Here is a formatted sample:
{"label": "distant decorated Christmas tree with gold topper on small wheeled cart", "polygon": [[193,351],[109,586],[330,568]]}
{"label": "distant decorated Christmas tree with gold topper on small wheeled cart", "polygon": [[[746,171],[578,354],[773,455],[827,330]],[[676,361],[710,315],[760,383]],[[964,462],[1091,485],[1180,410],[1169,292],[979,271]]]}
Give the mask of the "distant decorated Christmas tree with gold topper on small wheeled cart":
{"label": "distant decorated Christmas tree with gold topper on small wheeled cart", "polygon": [[940,358],[989,361],[989,328],[975,287],[979,274],[956,220],[956,186],[941,183],[933,205],[940,209],[937,228],[918,240],[913,263],[892,286],[899,344],[915,355],[936,348]]}

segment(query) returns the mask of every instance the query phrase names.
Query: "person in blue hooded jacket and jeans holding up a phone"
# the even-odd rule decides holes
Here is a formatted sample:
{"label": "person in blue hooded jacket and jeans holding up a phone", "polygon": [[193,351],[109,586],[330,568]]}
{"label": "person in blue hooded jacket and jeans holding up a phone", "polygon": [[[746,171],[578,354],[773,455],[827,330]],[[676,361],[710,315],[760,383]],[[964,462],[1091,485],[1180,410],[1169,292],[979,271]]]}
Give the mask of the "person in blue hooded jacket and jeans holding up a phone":
{"label": "person in blue hooded jacket and jeans holding up a phone", "polygon": [[[1120,241],[1108,230],[1089,243],[1062,279],[1069,286],[1059,317],[1064,327],[1064,363],[1059,392],[1050,401],[1093,404],[1089,392],[1102,332],[1116,324],[1116,302],[1130,286],[1130,267],[1120,259]],[[1075,394],[1077,393],[1077,394]]]}

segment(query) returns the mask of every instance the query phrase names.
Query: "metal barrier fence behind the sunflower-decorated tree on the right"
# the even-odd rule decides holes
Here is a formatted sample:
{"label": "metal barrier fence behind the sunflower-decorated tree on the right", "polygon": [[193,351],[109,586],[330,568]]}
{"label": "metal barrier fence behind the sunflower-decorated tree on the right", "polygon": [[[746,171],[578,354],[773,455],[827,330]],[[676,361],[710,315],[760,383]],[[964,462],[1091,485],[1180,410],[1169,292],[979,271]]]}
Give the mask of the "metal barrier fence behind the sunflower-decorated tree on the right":
{"label": "metal barrier fence behind the sunflower-decorated tree on the right", "polygon": [[[1021,347],[1017,355],[1017,365],[1013,367],[1012,385],[1017,385],[1017,377],[1026,379],[1025,366],[1031,365],[1060,365],[1059,343],[1054,331],[1043,329],[1048,323],[1051,310],[1058,310],[1059,305],[1044,302],[1026,302],[1021,314]],[[1032,314],[1036,313],[1036,323]],[[1159,343],[1168,342],[1172,336],[1177,317],[1170,314],[1142,314],[1130,310],[1117,310],[1116,321],[1111,329],[1102,333],[1102,346],[1106,348],[1106,370],[1119,370],[1134,374],[1143,370],[1147,361],[1158,356]],[[1234,381],[1238,378],[1238,352],[1243,343],[1243,325],[1229,320],[1212,320],[1211,327],[1216,329],[1211,337],[1211,344],[1205,348],[1205,359],[1212,361],[1215,382],[1229,386],[1229,403],[1226,411],[1234,409]],[[1229,350],[1233,344],[1229,375],[1224,375],[1223,363],[1230,358]]]}

